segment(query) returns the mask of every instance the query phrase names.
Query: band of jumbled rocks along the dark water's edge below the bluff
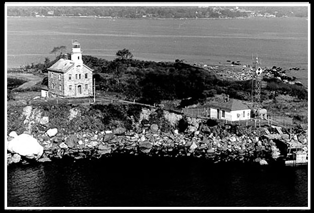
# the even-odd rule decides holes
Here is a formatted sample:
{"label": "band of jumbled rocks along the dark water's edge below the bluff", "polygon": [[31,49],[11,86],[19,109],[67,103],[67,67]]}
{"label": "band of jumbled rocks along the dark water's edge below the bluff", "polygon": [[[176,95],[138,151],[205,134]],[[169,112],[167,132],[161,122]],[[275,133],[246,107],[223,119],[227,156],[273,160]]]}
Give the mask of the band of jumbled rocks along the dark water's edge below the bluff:
{"label": "band of jumbled rocks along the dark water's edge below the bluff", "polygon": [[[190,119],[188,133],[179,133],[178,130],[162,132],[157,124],[147,126],[141,133],[120,127],[113,131],[77,132],[68,136],[58,133],[58,129],[54,128],[37,135],[36,139],[26,133],[17,135],[11,132],[8,137],[9,147],[16,139],[20,140],[20,144],[29,144],[25,145],[28,147],[33,140],[37,141],[38,145],[35,146],[33,154],[23,154],[8,149],[8,164],[23,162],[23,160],[27,162],[27,159],[45,162],[63,157],[99,158],[113,153],[124,153],[172,157],[194,156],[212,159],[213,162],[259,162],[263,165],[267,164],[268,160],[280,156],[276,144],[268,143],[259,136],[237,136],[229,134],[226,129],[216,127],[200,128],[198,122],[200,120]],[[43,149],[38,150],[38,146]]]}

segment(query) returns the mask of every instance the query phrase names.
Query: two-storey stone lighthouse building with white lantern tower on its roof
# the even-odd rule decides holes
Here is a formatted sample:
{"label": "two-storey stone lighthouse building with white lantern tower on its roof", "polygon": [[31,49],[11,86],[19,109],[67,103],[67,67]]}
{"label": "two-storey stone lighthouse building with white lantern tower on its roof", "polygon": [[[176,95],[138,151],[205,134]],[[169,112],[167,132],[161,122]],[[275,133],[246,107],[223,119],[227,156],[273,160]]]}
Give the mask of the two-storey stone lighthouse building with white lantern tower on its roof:
{"label": "two-storey stone lighthouse building with white lantern tower on its roof", "polygon": [[72,42],[71,60],[61,58],[48,68],[50,97],[93,96],[93,69],[83,63],[81,45]]}

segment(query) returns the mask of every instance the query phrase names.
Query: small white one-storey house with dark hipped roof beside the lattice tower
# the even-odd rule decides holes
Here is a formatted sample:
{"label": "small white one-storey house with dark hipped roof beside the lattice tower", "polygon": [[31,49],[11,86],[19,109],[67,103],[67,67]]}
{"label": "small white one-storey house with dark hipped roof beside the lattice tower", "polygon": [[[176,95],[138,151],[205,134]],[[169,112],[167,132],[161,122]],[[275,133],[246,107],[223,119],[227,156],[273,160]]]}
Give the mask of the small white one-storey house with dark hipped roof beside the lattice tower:
{"label": "small white one-storey house with dark hipped roof beside the lattice tower", "polygon": [[251,110],[237,99],[225,98],[210,104],[210,118],[228,121],[249,120]]}

